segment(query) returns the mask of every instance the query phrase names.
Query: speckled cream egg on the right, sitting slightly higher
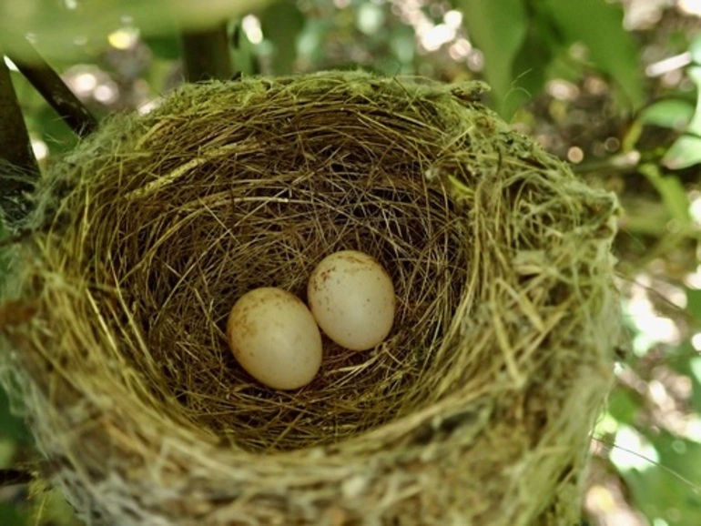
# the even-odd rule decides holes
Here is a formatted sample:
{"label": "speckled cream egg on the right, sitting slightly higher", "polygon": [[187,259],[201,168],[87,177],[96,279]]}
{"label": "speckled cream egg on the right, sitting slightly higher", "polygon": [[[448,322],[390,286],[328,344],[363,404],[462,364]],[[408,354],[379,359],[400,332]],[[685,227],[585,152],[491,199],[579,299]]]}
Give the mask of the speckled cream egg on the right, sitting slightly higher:
{"label": "speckled cream egg on the right, sitting slightly higher", "polygon": [[321,330],[346,349],[372,349],[394,323],[390,275],[364,252],[342,250],[322,259],[311,273],[307,298]]}

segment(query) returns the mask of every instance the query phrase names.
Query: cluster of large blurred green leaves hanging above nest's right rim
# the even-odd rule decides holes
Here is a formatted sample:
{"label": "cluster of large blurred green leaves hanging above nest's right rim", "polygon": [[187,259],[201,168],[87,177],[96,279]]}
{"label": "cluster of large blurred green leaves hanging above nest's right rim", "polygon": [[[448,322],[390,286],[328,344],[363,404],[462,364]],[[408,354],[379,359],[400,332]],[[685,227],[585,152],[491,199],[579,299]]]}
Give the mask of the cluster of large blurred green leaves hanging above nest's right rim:
{"label": "cluster of large blurred green leaves hanging above nest's right rim", "polygon": [[[620,5],[601,0],[461,0],[458,5],[467,14],[466,26],[475,45],[486,56],[485,77],[503,116],[512,116],[542,91],[550,69],[564,69],[561,61],[577,72],[596,69],[615,82],[630,106],[642,105],[638,48],[623,30]],[[568,54],[574,45],[584,46],[583,52]]]}

